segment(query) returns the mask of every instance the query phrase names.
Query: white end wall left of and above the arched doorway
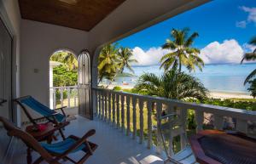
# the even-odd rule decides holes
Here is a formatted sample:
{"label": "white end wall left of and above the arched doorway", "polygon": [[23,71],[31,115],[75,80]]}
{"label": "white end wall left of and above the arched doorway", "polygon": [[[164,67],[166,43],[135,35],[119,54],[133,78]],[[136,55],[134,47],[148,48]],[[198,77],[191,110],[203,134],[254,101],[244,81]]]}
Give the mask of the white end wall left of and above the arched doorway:
{"label": "white end wall left of and above the arched doorway", "polygon": [[[60,48],[75,54],[88,48],[88,34],[58,25],[21,20],[21,95],[49,104],[49,56]],[[35,72],[35,69],[38,72]],[[23,117],[24,120],[26,117]]]}

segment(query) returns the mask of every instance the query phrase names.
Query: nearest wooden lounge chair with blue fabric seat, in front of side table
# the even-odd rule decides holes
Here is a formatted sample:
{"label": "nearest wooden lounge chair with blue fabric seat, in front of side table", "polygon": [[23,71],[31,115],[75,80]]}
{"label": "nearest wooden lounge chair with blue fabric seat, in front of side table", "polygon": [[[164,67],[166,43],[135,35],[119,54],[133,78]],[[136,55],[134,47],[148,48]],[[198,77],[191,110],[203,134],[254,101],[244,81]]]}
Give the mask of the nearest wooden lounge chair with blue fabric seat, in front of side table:
{"label": "nearest wooden lounge chair with blue fabric seat, in front of side table", "polygon": [[[27,147],[39,153],[40,157],[34,161],[33,164],[39,164],[42,161],[47,161],[49,164],[61,164],[61,159],[72,161],[75,164],[82,164],[92,156],[93,152],[97,148],[96,144],[90,143],[87,140],[90,136],[96,133],[94,129],[85,133],[82,138],[71,135],[64,141],[55,144],[46,144],[39,143],[29,133],[15,127],[12,122],[9,122],[2,116],[0,116],[0,122],[3,122],[3,127],[7,130],[9,136],[21,139]],[[79,150],[82,150],[85,153],[79,161],[73,161],[73,159],[68,157],[70,153],[75,153]],[[28,164],[30,163],[31,161],[28,161]]]}

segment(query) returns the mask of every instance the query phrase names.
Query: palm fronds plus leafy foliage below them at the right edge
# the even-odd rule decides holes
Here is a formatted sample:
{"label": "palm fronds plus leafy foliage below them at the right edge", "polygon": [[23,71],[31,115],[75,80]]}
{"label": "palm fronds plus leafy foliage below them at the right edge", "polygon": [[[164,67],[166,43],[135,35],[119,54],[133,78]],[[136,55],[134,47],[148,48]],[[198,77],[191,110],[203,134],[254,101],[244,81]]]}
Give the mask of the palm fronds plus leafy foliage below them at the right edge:
{"label": "palm fronds plus leafy foliage below them at the right edge", "polygon": [[[249,42],[249,44],[252,44],[254,46],[256,46],[256,37],[253,37],[253,39]],[[244,54],[244,57],[241,59],[241,63],[244,60],[247,61],[253,61],[256,59],[256,48],[253,50],[252,53],[247,53]],[[256,69],[253,70],[246,78],[246,80],[244,81],[244,85],[249,83],[250,87],[247,88],[247,90],[249,92],[251,92],[251,95],[253,96],[253,98],[256,97],[256,79],[254,78],[254,76],[256,76]]]}

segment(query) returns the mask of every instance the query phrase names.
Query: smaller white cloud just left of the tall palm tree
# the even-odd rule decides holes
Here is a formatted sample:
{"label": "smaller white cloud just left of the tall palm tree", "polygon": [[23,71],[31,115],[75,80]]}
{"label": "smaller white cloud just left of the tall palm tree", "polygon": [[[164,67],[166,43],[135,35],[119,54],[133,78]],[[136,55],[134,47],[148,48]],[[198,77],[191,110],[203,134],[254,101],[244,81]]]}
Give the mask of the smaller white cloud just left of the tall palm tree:
{"label": "smaller white cloud just left of the tall palm tree", "polygon": [[132,65],[159,65],[160,58],[169,52],[170,50],[162,48],[149,48],[144,51],[142,48],[136,47],[132,49],[134,59],[137,59],[138,63]]}

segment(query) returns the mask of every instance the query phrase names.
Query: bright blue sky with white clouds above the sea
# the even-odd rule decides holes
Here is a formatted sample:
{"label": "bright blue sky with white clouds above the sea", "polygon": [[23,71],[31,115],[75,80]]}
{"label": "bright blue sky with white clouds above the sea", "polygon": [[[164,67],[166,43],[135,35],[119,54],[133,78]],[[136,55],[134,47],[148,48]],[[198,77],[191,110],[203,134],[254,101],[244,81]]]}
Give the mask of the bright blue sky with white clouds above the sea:
{"label": "bright blue sky with white clouds above the sea", "polygon": [[[132,48],[138,65],[157,65],[166,50],[160,46],[170,36],[172,28],[189,27],[197,31],[194,47],[201,49],[207,64],[238,63],[242,54],[254,47],[247,42],[256,36],[256,0],[215,0],[119,41],[120,46]],[[149,58],[151,59],[145,59]]]}

